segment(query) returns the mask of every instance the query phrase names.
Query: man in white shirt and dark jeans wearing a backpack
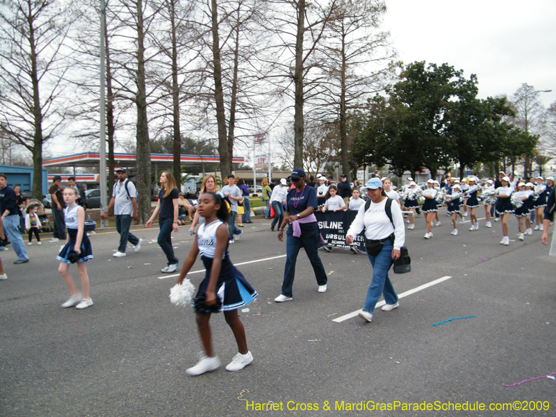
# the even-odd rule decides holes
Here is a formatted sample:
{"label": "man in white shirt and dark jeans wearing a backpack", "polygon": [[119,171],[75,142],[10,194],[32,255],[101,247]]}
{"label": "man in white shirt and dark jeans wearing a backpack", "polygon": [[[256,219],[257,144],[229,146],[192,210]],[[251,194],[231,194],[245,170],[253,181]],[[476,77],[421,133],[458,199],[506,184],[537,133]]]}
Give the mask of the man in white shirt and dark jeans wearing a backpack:
{"label": "man in white shirt and dark jeans wearing a backpack", "polygon": [[120,258],[121,256],[126,256],[128,241],[131,245],[135,245],[135,252],[138,252],[141,248],[142,239],[129,233],[132,215],[133,220],[137,220],[136,188],[133,183],[127,179],[127,173],[124,168],[118,168],[116,174],[117,182],[114,184],[112,190],[110,204],[108,204],[108,208],[104,211],[104,218],[108,218],[108,213],[110,213],[111,208],[114,207],[116,230],[120,234],[120,247],[117,248],[117,252],[115,252],[113,256]]}

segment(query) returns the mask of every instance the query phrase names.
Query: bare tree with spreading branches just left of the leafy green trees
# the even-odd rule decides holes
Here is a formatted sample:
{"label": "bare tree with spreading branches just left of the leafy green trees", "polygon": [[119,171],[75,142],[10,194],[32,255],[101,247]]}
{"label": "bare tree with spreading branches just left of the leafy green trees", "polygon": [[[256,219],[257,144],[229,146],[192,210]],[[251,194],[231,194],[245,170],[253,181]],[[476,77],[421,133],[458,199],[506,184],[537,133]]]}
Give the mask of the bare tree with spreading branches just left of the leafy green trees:
{"label": "bare tree with spreading branches just left of the leafy green trees", "polygon": [[347,117],[393,79],[395,52],[389,33],[380,30],[386,13],[382,0],[338,0],[336,4],[320,48],[320,67],[327,77],[318,85],[316,111],[308,116],[339,125],[341,167],[349,179]]}

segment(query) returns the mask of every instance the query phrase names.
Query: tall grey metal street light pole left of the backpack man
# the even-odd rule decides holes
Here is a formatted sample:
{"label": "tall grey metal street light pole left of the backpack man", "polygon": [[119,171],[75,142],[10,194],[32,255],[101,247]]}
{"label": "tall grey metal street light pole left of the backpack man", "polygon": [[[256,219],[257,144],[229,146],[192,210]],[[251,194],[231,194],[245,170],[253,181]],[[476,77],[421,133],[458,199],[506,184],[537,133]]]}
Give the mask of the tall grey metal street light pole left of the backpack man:
{"label": "tall grey metal street light pole left of the backpack man", "polygon": [[[106,24],[106,3],[100,0],[100,152],[99,152],[99,184],[100,184],[100,213],[104,213],[106,209],[106,108],[105,108],[105,86],[104,77],[105,53],[104,50],[104,29]],[[108,220],[101,218],[100,227],[108,227]]]}

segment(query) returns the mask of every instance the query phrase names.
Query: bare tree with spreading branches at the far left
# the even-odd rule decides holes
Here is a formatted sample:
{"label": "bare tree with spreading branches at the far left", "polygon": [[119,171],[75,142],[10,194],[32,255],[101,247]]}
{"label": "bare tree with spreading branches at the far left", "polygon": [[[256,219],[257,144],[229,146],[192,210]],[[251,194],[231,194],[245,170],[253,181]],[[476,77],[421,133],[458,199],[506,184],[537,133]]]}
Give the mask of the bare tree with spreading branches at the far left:
{"label": "bare tree with spreading branches at the far left", "polygon": [[0,128],[33,154],[36,198],[42,198],[42,145],[65,121],[63,48],[70,23],[54,0],[13,0],[0,13]]}

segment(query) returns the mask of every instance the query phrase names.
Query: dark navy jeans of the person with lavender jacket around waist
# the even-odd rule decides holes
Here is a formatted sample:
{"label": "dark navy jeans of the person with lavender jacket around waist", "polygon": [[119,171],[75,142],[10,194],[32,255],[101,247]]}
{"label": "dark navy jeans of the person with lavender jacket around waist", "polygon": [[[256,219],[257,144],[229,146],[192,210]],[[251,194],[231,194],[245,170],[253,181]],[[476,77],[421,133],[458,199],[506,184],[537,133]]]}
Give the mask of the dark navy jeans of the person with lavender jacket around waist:
{"label": "dark navy jeans of the person with lavender jacket around waist", "polygon": [[295,263],[301,247],[305,248],[305,253],[311,261],[318,285],[326,285],[328,281],[325,267],[322,265],[317,252],[318,229],[315,227],[314,231],[303,233],[299,238],[296,238],[293,236],[293,229],[288,227],[288,230],[286,230],[286,266],[284,267],[284,282],[282,283],[282,294],[286,297],[292,297]]}

